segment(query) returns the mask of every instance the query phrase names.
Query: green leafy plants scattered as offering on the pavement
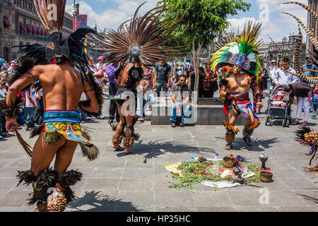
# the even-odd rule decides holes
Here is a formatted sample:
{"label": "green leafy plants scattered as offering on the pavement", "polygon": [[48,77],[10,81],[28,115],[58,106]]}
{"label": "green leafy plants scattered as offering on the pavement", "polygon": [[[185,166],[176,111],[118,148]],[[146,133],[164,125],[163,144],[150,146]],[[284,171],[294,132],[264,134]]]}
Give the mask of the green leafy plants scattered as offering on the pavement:
{"label": "green leafy plants scattered as offering on the pavement", "polygon": [[[210,181],[210,182],[219,182],[221,180],[226,180],[228,182],[232,181],[232,177],[225,177],[221,178],[220,175],[214,175],[211,174],[209,176],[206,176],[206,174],[194,174],[194,169],[206,169],[209,164],[217,164],[222,165],[222,161],[214,162],[212,160],[207,160],[204,162],[198,162],[198,161],[189,161],[189,162],[182,162],[181,165],[177,169],[182,170],[182,174],[184,174],[184,177],[173,177],[177,182],[169,182],[170,188],[187,188],[187,189],[193,189],[195,184],[201,184],[201,182],[204,181]],[[247,185],[251,185],[250,183],[258,183],[261,182],[259,172],[261,172],[260,169],[257,169],[255,165],[246,163],[246,162],[240,162],[240,164],[244,164],[249,170],[254,172],[254,177],[250,177],[248,179],[245,179],[245,182]],[[214,189],[215,190],[215,189]]]}

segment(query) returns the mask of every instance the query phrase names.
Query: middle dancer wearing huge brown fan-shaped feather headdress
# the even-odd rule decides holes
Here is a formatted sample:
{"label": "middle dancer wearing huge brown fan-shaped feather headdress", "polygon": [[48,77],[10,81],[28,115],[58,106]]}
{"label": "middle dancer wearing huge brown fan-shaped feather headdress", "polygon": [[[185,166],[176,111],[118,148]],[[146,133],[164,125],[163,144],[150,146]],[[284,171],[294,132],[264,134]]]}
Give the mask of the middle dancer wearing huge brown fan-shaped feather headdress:
{"label": "middle dancer wearing huge brown fan-shaped feather headdress", "polygon": [[118,76],[119,88],[114,95],[120,122],[116,126],[112,124],[112,129],[115,131],[112,136],[112,147],[117,150],[122,149],[120,144],[123,141],[126,154],[131,153],[134,141],[139,138],[139,135],[134,133],[134,124],[137,121],[136,86],[143,74],[141,64],[149,68],[158,61],[167,59],[167,52],[170,51],[171,54],[173,49],[161,45],[170,39],[171,32],[176,28],[167,25],[170,20],[156,20],[165,8],[153,8],[144,16],[138,16],[139,8],[131,20],[105,35],[105,49],[109,54],[107,59],[121,64],[115,73]]}

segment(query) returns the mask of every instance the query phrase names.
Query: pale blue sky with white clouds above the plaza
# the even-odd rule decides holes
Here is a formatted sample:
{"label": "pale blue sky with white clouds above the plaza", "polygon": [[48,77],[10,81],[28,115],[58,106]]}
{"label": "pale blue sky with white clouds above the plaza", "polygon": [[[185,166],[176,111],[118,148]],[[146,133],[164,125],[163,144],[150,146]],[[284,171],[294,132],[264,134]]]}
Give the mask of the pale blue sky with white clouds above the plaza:
{"label": "pale blue sky with white clouds above the plaza", "polygon": [[[93,27],[97,23],[100,30],[104,28],[117,28],[117,26],[128,20],[136,8],[146,0],[81,0],[80,13],[88,15],[88,25]],[[141,13],[145,13],[153,8],[158,0],[148,0],[141,8]],[[228,20],[232,25],[232,30],[242,28],[248,19],[261,20],[264,29],[261,38],[265,42],[270,42],[269,35],[276,42],[290,33],[298,33],[298,26],[294,18],[281,13],[282,11],[291,13],[307,25],[307,11],[293,4],[279,5],[289,0],[245,0],[252,4],[248,12],[239,11],[236,16],[229,16]],[[303,4],[308,4],[307,0],[298,0]],[[73,0],[67,0],[66,11],[73,7]],[[228,29],[228,31],[230,28]],[[302,30],[305,36],[304,30]]]}

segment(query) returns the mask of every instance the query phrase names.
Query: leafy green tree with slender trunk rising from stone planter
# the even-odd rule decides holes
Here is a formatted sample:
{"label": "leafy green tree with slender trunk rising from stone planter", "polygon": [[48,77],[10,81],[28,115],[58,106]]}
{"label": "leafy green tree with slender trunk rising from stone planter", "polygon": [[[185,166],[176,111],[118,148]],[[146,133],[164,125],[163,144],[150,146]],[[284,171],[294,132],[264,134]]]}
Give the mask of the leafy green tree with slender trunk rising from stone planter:
{"label": "leafy green tree with slender trunk rising from stone planter", "polygon": [[[223,32],[230,23],[228,15],[235,16],[237,11],[249,10],[251,4],[243,0],[161,0],[158,6],[165,6],[164,20],[176,23],[177,29],[172,33],[182,50],[191,49],[196,74],[195,90],[199,90],[199,52],[211,44],[216,35]],[[186,29],[187,28],[187,29]],[[186,29],[186,30],[184,30]]]}

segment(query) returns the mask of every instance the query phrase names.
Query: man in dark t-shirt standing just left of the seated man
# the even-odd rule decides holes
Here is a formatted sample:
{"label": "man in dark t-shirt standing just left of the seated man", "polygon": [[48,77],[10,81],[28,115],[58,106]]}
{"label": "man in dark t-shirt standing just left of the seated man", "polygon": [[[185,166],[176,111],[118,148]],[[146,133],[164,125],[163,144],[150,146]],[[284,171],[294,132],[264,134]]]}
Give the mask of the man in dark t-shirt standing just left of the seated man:
{"label": "man in dark t-shirt standing just left of the seated man", "polygon": [[167,93],[170,82],[170,71],[171,67],[165,61],[160,61],[155,67],[155,83],[154,87],[157,87],[157,96],[160,96],[160,91],[163,90]]}

